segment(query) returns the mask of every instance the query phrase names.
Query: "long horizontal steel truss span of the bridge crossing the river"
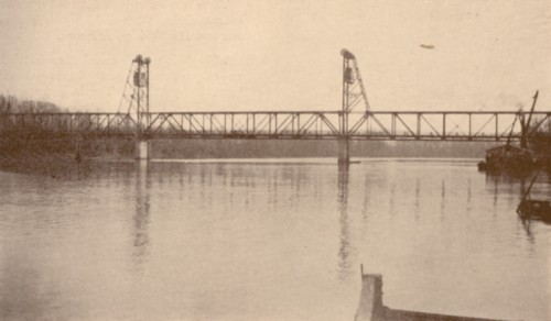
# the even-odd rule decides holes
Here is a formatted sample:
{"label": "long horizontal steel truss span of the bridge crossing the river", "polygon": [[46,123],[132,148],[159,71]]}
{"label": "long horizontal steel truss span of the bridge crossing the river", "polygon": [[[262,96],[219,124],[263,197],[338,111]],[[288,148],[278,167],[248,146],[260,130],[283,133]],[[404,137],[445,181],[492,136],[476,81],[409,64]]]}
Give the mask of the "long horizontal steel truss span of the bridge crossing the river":
{"label": "long horizontal steel truss span of the bridge crossing the river", "polygon": [[[504,111],[236,111],[2,113],[0,137],[139,136],[141,139],[270,139],[506,141],[521,137],[529,112]],[[521,120],[516,122],[516,120]],[[530,131],[551,126],[533,112]]]}

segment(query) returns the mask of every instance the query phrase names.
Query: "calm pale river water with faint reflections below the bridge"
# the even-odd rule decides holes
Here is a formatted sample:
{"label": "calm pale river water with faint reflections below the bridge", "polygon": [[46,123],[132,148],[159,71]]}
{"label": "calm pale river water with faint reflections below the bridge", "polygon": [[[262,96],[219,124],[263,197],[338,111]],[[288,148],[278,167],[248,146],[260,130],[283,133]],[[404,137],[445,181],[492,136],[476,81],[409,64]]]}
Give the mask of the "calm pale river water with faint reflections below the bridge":
{"label": "calm pale river water with faint reflections below the bridge", "polygon": [[359,264],[391,308],[551,318],[551,225],[518,219],[519,179],[326,163],[0,171],[0,319],[353,320]]}

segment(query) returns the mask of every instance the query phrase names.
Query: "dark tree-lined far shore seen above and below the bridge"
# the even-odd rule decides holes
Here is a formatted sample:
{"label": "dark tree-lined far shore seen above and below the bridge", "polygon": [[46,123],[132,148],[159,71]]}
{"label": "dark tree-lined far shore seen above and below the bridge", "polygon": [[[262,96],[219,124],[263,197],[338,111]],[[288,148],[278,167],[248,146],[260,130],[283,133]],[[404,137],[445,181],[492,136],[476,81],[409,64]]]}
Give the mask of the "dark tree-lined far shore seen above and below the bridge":
{"label": "dark tree-lined far shore seen above and below the bridge", "polygon": [[[0,95],[1,113],[57,113],[65,109],[44,101],[18,100]],[[1,126],[2,124],[0,124]],[[29,173],[73,170],[77,151],[83,160],[129,160],[134,158],[133,137],[50,135],[48,129],[25,128],[12,134],[0,128],[0,169]],[[352,157],[483,158],[486,150],[501,142],[381,142],[352,141]],[[531,140],[551,169],[551,128],[540,129]],[[77,148],[78,147],[78,148]],[[336,141],[279,140],[153,140],[152,158],[293,158],[336,157]]]}

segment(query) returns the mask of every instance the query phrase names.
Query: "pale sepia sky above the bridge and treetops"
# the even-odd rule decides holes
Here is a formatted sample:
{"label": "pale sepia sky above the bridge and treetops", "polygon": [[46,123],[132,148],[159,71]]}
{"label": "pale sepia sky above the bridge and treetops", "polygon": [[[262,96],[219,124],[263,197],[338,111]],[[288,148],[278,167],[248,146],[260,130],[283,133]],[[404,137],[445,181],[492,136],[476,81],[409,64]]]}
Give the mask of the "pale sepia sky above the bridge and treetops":
{"label": "pale sepia sky above the bridge and treetops", "polygon": [[117,111],[137,54],[152,111],[338,110],[343,47],[372,110],[551,110],[549,0],[0,5],[0,93],[74,111]]}

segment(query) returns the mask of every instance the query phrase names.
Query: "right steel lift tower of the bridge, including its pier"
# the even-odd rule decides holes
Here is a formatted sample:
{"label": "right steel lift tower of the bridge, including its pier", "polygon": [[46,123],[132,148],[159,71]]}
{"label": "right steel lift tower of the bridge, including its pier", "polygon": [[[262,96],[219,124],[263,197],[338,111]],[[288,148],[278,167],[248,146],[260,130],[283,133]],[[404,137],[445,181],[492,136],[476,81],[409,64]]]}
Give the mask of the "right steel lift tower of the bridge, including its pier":
{"label": "right steel lift tower of the bridge, including its pier", "polygon": [[343,56],[343,107],[341,111],[341,137],[338,140],[338,164],[348,165],[350,162],[350,139],[348,131],[348,115],[360,101],[364,101],[366,112],[370,110],[366,89],[359,73],[356,56],[347,49],[342,49]]}

